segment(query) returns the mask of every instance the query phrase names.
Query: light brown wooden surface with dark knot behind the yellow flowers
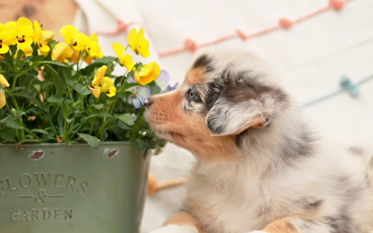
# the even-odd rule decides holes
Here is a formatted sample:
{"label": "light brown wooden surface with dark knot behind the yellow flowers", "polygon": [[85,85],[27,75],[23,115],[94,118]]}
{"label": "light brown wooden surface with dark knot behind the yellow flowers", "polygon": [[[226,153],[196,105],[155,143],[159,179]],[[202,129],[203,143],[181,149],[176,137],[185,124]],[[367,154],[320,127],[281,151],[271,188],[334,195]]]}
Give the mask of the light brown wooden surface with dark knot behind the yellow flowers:
{"label": "light brown wooden surface with dark knot behind the yellow flowers", "polygon": [[24,16],[35,19],[43,29],[56,32],[56,40],[62,40],[59,30],[72,24],[77,9],[74,0],[0,0],[0,23],[16,21]]}

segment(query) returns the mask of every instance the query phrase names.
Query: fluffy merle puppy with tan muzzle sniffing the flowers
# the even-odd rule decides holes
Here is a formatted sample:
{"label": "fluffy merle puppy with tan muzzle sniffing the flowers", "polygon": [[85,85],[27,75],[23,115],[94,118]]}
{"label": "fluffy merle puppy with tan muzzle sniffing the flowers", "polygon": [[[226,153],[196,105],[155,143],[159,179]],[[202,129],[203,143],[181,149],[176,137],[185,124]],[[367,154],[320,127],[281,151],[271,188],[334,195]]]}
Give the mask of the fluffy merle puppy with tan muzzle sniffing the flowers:
{"label": "fluffy merle puppy with tan muzzle sniffing the flowers", "polygon": [[181,211],[151,233],[373,229],[372,154],[317,140],[256,56],[200,54],[144,105],[154,132],[197,158]]}

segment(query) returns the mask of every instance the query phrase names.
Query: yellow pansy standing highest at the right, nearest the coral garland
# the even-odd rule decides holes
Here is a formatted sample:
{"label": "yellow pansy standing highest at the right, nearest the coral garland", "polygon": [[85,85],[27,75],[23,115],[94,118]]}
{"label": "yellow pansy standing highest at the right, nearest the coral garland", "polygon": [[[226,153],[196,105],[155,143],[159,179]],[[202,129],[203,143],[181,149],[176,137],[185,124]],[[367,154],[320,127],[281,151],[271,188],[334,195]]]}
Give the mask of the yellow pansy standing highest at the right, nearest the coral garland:
{"label": "yellow pansy standing highest at the right, nearest the coral garland", "polygon": [[139,32],[135,28],[129,31],[127,36],[128,45],[131,47],[131,51],[136,51],[141,57],[149,57],[149,42],[144,38],[144,28],[140,28]]}

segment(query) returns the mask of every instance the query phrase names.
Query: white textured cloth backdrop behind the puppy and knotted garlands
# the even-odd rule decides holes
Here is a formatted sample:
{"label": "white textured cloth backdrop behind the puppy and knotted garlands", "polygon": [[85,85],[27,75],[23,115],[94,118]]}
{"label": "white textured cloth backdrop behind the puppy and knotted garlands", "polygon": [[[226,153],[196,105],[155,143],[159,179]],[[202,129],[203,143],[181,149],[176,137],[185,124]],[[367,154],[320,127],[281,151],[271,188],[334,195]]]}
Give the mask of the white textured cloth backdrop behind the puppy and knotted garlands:
{"label": "white textured cloth backdrop behind the puppy and knotted garlands", "polygon": [[[186,38],[197,43],[235,31],[252,32],[297,18],[327,4],[327,0],[76,0],[81,11],[75,24],[86,32],[115,29],[115,19],[138,21],[151,43],[151,57],[167,70],[171,82],[181,82],[191,60],[189,52],[159,58],[156,50],[180,46]],[[285,88],[302,103],[338,88],[341,75],[352,81],[373,74],[373,1],[352,0],[339,12],[329,10],[294,25],[248,41],[231,39],[211,47],[253,51],[272,64]],[[126,43],[126,34],[99,36],[104,54],[114,56],[113,42]],[[120,70],[118,71],[120,72]],[[373,80],[360,87],[360,96],[340,94],[303,110],[319,134],[343,145],[373,147]],[[188,174],[189,152],[167,145],[152,158],[151,173],[159,181]],[[147,198],[142,233],[153,230],[181,205],[184,188],[160,191]]]}

